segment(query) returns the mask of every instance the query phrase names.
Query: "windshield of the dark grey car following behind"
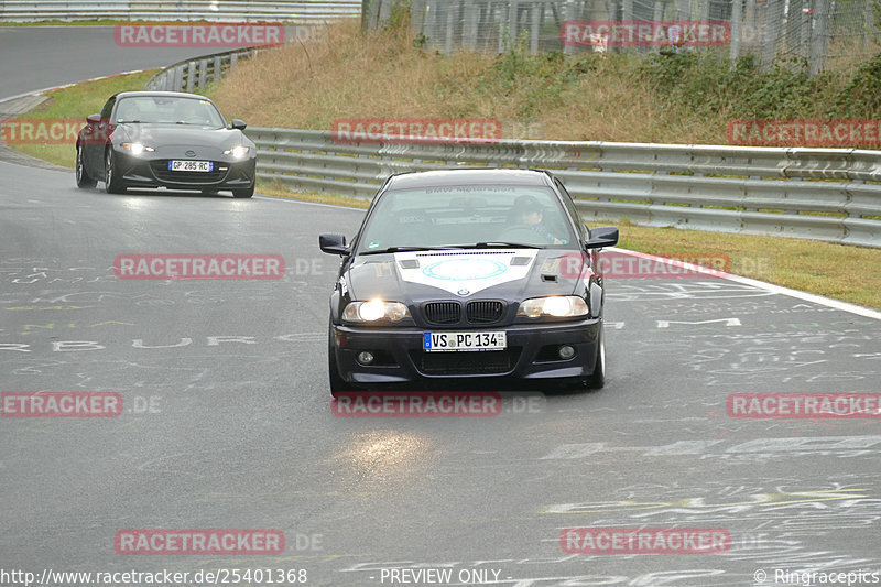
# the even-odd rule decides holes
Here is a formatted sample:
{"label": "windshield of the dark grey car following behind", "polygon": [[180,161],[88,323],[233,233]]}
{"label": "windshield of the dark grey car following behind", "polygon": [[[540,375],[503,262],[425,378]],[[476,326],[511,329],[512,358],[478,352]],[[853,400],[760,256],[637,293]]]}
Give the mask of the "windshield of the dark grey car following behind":
{"label": "windshield of the dark grey car following behind", "polygon": [[115,122],[195,124],[225,127],[224,117],[208,100],[168,96],[135,96],[122,98],[117,105]]}

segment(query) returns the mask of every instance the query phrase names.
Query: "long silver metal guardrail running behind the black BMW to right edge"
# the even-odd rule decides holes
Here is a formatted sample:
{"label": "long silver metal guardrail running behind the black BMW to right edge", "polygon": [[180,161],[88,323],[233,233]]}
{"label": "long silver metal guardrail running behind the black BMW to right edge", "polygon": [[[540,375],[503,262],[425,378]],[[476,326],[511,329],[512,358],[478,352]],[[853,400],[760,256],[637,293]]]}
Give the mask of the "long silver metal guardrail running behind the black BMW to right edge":
{"label": "long silver metal guardrail running behind the black BMW to right edge", "polygon": [[607,142],[340,144],[330,131],[249,128],[258,176],[369,198],[392,173],[547,169],[585,219],[881,248],[881,151]]}

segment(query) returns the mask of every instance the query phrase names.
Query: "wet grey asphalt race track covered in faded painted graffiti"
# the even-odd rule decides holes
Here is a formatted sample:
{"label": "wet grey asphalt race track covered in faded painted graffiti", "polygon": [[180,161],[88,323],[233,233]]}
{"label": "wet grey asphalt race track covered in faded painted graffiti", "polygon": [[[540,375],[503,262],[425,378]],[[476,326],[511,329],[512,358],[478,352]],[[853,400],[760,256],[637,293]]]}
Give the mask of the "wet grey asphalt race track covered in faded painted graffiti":
{"label": "wet grey asphalt race track covered in faded painted graffiti", "polygon": [[[24,52],[10,68],[15,34],[0,29],[8,95],[146,65],[74,72],[48,64],[55,52]],[[57,54],[74,54],[57,34]],[[309,585],[335,587],[881,573],[881,420],[726,414],[736,392],[881,392],[877,318],[728,280],[619,280],[602,391],[505,394],[496,417],[344,418],[326,383],[336,261],[316,237],[352,235],[360,210],[110,196],[77,189],[72,172],[3,162],[0,178],[0,390],[118,392],[124,406],[107,418],[0,418],[4,572],[167,569],[204,585],[192,574],[306,569]],[[287,271],[115,276],[120,253],[180,252],[278,253]],[[587,526],[721,529],[731,545],[564,552],[562,531]],[[285,548],[130,556],[113,544],[127,529],[278,529]],[[391,581],[396,567],[413,574]]]}

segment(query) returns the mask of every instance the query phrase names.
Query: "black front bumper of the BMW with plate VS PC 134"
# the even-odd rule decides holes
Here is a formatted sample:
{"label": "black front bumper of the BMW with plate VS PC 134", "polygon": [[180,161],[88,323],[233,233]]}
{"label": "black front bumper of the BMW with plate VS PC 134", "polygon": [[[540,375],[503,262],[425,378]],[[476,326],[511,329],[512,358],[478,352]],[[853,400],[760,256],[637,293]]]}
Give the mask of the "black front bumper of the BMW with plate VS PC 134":
{"label": "black front bumper of the BMW with plate VS PC 134", "polygon": [[[503,351],[424,351],[423,333],[444,331],[439,328],[339,325],[330,328],[330,352],[336,354],[340,377],[351,383],[417,383],[474,378],[535,381],[590,376],[597,357],[601,318],[483,328],[485,331],[507,333],[508,348]],[[562,345],[574,347],[575,356],[559,359],[556,349]],[[376,357],[372,365],[358,362],[358,354],[365,350]]]}

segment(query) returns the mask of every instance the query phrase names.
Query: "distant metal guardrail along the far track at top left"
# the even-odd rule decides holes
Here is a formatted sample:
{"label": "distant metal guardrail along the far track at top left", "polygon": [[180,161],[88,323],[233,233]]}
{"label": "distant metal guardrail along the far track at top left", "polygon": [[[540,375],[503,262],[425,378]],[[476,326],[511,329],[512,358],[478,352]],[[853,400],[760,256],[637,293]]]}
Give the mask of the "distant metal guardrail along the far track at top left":
{"label": "distant metal guardrail along the far track at top left", "polygon": [[361,0],[0,0],[0,21],[7,22],[110,19],[320,24],[360,14]]}

